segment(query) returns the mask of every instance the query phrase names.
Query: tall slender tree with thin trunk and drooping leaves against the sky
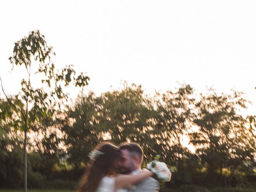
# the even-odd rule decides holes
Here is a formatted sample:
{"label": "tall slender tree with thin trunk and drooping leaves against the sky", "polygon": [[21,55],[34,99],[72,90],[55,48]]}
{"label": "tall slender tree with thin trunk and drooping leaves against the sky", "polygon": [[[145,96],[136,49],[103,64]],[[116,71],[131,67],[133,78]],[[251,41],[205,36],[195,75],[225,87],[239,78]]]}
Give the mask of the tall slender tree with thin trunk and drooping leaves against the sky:
{"label": "tall slender tree with thin trunk and drooping leaves against the sky", "polygon": [[[63,91],[63,86],[73,83],[75,86],[84,87],[89,81],[89,77],[84,73],[76,76],[72,66],[56,71],[54,63],[51,62],[51,56],[54,55],[44,36],[38,30],[32,31],[15,43],[13,55],[9,58],[13,68],[22,66],[26,69],[26,77],[21,81],[21,91],[13,99],[9,98],[0,79],[2,91],[16,112],[13,128],[24,132],[24,192],[27,192],[27,132],[33,124],[40,124],[48,117],[53,118],[57,109],[62,109],[62,104],[68,100],[68,94]],[[38,70],[35,74],[44,76],[44,88],[33,88],[31,84],[31,66],[36,63]]]}

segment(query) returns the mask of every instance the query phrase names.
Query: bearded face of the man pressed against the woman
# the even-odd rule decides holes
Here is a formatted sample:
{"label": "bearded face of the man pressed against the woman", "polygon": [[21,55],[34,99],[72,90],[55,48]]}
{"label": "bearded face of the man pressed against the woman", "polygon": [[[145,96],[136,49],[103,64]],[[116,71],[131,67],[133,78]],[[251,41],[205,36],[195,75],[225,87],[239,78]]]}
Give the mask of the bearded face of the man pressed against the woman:
{"label": "bearded face of the man pressed against the woman", "polygon": [[134,165],[132,163],[132,158],[127,149],[122,149],[121,152],[122,154],[119,162],[119,168],[122,174],[128,174],[133,171]]}

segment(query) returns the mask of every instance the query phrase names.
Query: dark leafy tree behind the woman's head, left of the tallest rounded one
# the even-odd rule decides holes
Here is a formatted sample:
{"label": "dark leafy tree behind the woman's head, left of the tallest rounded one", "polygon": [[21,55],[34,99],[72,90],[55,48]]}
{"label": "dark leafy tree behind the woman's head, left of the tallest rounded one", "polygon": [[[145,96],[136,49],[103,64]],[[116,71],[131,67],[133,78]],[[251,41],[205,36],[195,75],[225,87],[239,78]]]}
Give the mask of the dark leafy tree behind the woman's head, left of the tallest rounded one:
{"label": "dark leafy tree behind the woman's head, left of the tallest rounded one", "polygon": [[84,168],[89,161],[86,154],[103,140],[101,133],[104,124],[98,120],[101,109],[101,98],[92,92],[79,96],[74,106],[68,107],[66,121],[62,126],[65,133],[63,140],[68,148],[68,163],[78,170]]}

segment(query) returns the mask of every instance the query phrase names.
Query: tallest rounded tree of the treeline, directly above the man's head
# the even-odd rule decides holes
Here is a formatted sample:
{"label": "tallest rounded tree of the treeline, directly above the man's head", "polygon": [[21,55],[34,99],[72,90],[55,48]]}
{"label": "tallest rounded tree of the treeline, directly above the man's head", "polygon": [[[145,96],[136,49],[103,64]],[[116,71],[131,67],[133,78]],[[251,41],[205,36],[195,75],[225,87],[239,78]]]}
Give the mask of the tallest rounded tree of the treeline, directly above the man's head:
{"label": "tallest rounded tree of the treeline, directly above the man's head", "polygon": [[[102,94],[103,110],[100,112],[105,131],[114,143],[138,142],[144,148],[145,158],[154,156],[152,138],[154,106],[144,94],[142,86],[124,82],[122,89]],[[147,154],[147,155],[146,155]]]}

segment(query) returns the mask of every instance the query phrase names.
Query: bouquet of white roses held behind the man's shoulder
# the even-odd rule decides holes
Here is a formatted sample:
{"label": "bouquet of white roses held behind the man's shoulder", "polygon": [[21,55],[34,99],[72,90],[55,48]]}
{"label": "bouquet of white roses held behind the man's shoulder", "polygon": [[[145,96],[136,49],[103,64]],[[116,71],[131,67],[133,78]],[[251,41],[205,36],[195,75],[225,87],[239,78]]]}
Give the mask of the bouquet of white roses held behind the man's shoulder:
{"label": "bouquet of white roses held behind the man's shoulder", "polygon": [[155,160],[147,164],[147,169],[155,174],[155,178],[160,183],[165,183],[171,180],[173,169],[168,169],[164,162],[159,162],[160,155],[157,155]]}

